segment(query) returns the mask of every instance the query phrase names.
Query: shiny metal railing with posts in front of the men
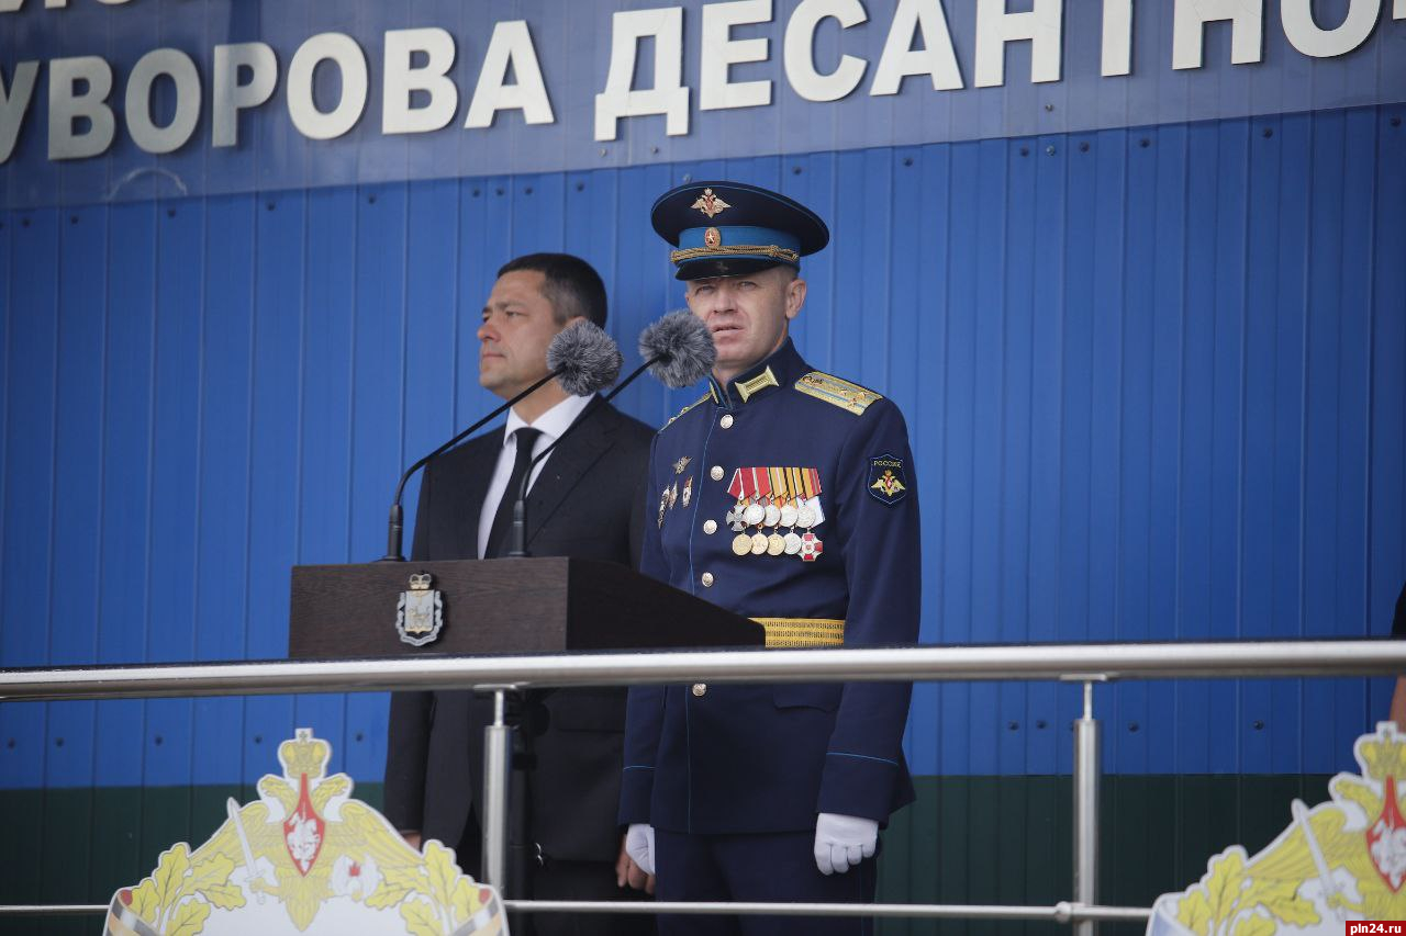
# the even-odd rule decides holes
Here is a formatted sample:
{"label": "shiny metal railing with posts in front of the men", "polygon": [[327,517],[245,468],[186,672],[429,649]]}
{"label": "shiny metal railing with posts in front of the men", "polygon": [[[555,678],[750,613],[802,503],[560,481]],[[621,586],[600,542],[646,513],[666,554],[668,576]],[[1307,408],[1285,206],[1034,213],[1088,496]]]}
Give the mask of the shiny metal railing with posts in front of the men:
{"label": "shiny metal railing with posts in front of the men", "polygon": [[[1071,923],[1080,936],[1099,922],[1146,921],[1144,908],[1101,906],[1098,876],[1099,735],[1094,684],[1129,679],[1233,679],[1365,676],[1406,672],[1406,641],[1278,641],[1220,644],[1062,644],[1026,646],[891,646],[796,651],[666,651],[540,656],[461,656],[399,661],[246,662],[208,665],[89,666],[0,670],[0,700],[76,700],[281,693],[482,689],[495,691],[495,725],[485,760],[492,805],[485,838],[485,880],[502,880],[506,847],[502,776],[508,732],[502,700],[509,690],[650,683],[776,682],[990,682],[1081,683],[1083,717],[1074,722],[1073,901],[1053,906],[942,904],[614,904],[505,901],[520,912],[773,914],[905,916],[920,919],[1028,919]],[[1385,714],[1385,713],[1384,713]],[[495,788],[496,787],[496,788]],[[98,914],[105,906],[11,905],[7,915]]]}

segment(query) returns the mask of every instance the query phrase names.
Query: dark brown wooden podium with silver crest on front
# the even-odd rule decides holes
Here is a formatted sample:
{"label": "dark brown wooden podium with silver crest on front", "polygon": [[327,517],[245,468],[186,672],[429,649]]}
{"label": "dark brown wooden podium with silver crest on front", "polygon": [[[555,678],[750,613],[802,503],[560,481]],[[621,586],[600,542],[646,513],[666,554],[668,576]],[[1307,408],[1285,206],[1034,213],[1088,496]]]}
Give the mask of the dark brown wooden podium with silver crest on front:
{"label": "dark brown wooden podium with silver crest on front", "polygon": [[[401,593],[427,572],[443,627],[401,641]],[[759,624],[613,562],[544,557],[298,565],[288,656],[366,659],[479,654],[762,646]]]}

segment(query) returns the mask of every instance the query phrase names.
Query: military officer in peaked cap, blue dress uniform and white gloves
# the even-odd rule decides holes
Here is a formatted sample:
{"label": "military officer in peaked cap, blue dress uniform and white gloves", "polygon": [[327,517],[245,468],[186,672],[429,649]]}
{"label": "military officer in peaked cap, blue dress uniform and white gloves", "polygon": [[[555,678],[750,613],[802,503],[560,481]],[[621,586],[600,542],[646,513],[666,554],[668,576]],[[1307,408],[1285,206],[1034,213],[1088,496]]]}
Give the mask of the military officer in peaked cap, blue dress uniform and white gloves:
{"label": "military officer in peaked cap, blue dress uniform and white gloves", "polygon": [[[917,641],[918,498],[882,395],[807,364],[787,330],[813,211],[754,186],[664,194],[688,305],[713,334],[707,392],[655,436],[641,571],[766,628],[768,646]],[[621,821],[664,901],[872,901],[879,826],[912,801],[911,686],[630,691]],[[662,916],[661,933],[868,933],[855,918]]]}

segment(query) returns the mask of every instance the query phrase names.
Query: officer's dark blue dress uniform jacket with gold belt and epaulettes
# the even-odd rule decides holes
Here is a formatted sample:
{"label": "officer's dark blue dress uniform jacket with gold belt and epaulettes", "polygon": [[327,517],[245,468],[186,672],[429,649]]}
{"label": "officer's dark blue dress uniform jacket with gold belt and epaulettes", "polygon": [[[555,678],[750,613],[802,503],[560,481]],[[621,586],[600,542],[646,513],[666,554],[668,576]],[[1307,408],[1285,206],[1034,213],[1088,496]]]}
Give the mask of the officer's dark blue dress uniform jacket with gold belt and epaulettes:
{"label": "officer's dark blue dress uniform jacket with gold belt and epaulettes", "polygon": [[[813,561],[734,552],[738,468],[813,469]],[[903,415],[813,371],[789,339],[731,384],[710,379],[655,436],[647,485],[641,571],[773,618],[768,646],[838,644],[838,621],[845,646],[917,641],[918,498]],[[631,689],[620,819],[697,835],[807,831],[818,812],[883,824],[914,798],[901,749],[910,696],[907,683]]]}

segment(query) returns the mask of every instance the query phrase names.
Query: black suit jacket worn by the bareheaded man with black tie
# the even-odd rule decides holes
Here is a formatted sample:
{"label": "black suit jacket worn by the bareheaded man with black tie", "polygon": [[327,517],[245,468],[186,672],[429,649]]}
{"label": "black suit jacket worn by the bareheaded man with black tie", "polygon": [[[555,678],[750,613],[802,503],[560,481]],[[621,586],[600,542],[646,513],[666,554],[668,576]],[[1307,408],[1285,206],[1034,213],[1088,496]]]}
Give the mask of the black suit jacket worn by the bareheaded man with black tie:
{"label": "black suit jacket worn by the bareheaded man with black tie", "polygon": [[[599,396],[575,426],[527,495],[527,551],[634,568],[654,430]],[[502,443],[502,430],[492,431],[429,464],[413,559],[479,558],[478,520]],[[553,859],[614,862],[619,854],[624,698],[623,687],[602,687],[541,700],[546,727],[529,780],[529,833]],[[489,721],[491,703],[468,691],[391,696],[385,817],[396,828],[419,829],[451,847],[465,829],[477,829],[470,805],[481,797],[482,727]]]}

